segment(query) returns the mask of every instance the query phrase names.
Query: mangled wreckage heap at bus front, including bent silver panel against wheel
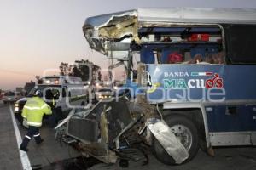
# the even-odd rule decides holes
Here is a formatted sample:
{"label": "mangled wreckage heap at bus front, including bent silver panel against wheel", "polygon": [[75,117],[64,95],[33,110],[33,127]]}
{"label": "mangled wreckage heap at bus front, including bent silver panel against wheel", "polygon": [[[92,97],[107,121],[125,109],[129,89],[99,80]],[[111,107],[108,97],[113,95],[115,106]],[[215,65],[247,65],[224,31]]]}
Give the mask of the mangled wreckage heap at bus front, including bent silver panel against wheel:
{"label": "mangled wreckage heap at bus front, including bent silver panel against wheel", "polygon": [[[185,161],[189,157],[188,151],[157,115],[156,108],[139,103],[131,103],[122,96],[111,102],[101,100],[92,109],[77,112],[73,109],[55,127],[57,135],[69,140],[68,143],[84,156],[94,156],[105,163],[115,163],[118,159],[147,159],[147,156],[141,156],[145,152],[143,144],[151,145],[153,138],[160,142],[175,163]],[[142,153],[129,156],[131,150]]]}

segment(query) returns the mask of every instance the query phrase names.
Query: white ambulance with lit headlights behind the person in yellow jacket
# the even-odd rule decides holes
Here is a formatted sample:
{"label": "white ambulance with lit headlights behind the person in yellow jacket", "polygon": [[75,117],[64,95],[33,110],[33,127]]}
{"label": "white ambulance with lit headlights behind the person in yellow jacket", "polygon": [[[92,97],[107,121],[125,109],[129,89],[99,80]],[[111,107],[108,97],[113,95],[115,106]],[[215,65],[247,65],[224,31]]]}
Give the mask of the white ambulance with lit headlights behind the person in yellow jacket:
{"label": "white ambulance with lit headlights behind the person in yellow jacket", "polygon": [[54,123],[65,118],[72,108],[80,108],[87,103],[88,92],[80,77],[42,77],[26,98],[19,99],[15,103],[15,116],[20,123],[23,122],[21,116],[23,106],[27,98],[32,97],[36,90],[41,90],[44,101],[53,109],[51,117]]}

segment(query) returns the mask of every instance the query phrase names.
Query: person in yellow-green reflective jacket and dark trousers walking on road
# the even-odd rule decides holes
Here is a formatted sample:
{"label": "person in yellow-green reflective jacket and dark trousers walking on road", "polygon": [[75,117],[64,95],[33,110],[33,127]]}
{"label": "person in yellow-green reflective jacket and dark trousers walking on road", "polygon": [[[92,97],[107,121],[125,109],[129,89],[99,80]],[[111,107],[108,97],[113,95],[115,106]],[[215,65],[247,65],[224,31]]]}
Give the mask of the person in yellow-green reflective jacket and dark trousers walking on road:
{"label": "person in yellow-green reflective jacket and dark trousers walking on road", "polygon": [[34,137],[37,144],[41,144],[44,139],[41,139],[39,127],[42,126],[44,114],[51,115],[50,106],[47,105],[41,97],[43,96],[40,90],[36,90],[32,99],[28,99],[22,111],[22,117],[26,119],[28,131],[20,144],[20,150],[28,151],[27,145]]}

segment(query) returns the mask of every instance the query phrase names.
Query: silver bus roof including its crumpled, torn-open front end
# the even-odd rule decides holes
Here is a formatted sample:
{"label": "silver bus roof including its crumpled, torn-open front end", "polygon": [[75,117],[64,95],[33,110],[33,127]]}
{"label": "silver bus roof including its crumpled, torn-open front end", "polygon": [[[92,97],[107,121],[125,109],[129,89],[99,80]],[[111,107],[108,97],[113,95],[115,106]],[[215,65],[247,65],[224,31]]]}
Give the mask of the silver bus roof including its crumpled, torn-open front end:
{"label": "silver bus roof including its crumpled, torn-open front end", "polygon": [[[107,41],[129,37],[139,27],[156,24],[256,24],[256,9],[245,8],[137,8],[112,14],[102,14],[85,20],[84,36],[90,47],[107,54]],[[127,46],[126,46],[127,47]],[[111,47],[113,48],[113,47]],[[124,48],[121,46],[120,48]]]}

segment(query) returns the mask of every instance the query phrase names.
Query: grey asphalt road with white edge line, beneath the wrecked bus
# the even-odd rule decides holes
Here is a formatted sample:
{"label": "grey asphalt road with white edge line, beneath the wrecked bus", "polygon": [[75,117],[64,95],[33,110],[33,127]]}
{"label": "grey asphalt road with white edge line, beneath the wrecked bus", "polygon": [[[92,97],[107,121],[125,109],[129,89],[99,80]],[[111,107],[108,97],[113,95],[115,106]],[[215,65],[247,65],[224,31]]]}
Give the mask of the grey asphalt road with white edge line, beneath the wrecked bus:
{"label": "grey asphalt road with white edge line, beneath the wrecked bus", "polygon": [[[23,138],[26,134],[26,128],[18,124],[20,135]],[[9,105],[3,105],[0,101],[0,169],[22,169],[20,154],[15,137],[14,126],[9,111]],[[34,169],[74,169],[67,168],[67,160],[70,163],[73,157],[79,156],[73,149],[66,144],[60,144],[55,140],[55,131],[49,127],[48,122],[44,122],[44,127],[41,128],[41,135],[44,138],[44,143],[38,146],[32,140],[29,144],[27,156]],[[125,169],[140,169],[140,170],[252,170],[256,169],[256,148],[253,147],[233,147],[233,148],[218,148],[214,149],[215,157],[207,156],[199,150],[195,159],[181,166],[166,166],[157,161],[154,156],[149,155],[149,163],[142,166],[142,161],[130,162],[129,167]],[[91,160],[90,164],[94,164]],[[76,169],[81,169],[76,167]],[[85,169],[85,168],[84,168]],[[106,165],[96,163],[89,168],[90,170],[117,170],[122,169],[119,164]]]}

